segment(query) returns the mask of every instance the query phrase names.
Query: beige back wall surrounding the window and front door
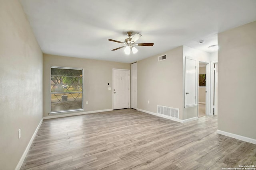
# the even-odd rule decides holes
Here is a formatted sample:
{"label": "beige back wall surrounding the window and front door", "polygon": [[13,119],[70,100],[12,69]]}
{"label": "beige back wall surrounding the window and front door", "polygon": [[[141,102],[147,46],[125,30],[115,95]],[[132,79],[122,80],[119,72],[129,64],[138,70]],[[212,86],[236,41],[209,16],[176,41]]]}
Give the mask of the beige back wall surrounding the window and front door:
{"label": "beige back wall surrounding the window and front door", "polygon": [[[51,66],[84,69],[84,111],[112,109],[112,69],[130,70],[128,63],[44,54],[44,117],[49,116],[50,112]],[[111,90],[108,90],[108,87],[111,87]],[[86,105],[86,101],[88,101],[88,105]]]}

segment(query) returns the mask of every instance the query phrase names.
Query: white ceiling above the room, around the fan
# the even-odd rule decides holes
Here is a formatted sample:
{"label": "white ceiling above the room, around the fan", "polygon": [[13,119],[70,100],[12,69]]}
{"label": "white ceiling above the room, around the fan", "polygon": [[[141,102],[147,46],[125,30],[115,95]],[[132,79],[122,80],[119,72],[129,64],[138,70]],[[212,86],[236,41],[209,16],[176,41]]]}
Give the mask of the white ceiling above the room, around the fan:
{"label": "white ceiling above the room, around the fan", "polygon": [[[217,33],[256,20],[256,0],[20,0],[43,53],[133,63],[180,45],[208,51]],[[142,34],[125,55],[127,31]],[[204,43],[198,41],[204,39]],[[210,51],[208,51],[210,52]]]}

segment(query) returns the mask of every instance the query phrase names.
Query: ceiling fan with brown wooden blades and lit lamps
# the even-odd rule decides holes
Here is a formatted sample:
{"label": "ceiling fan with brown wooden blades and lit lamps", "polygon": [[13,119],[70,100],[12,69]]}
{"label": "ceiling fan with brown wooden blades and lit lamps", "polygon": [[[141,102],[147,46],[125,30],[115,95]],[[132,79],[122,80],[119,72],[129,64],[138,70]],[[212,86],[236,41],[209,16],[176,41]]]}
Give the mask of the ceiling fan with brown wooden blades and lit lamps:
{"label": "ceiling fan with brown wooden blades and lit lamps", "polygon": [[124,40],[124,42],[116,41],[114,39],[108,39],[108,41],[114,41],[116,43],[125,44],[122,47],[118,47],[116,49],[112,49],[112,51],[115,51],[115,50],[118,50],[118,49],[122,49],[122,48],[125,47],[124,53],[129,55],[130,51],[132,51],[132,53],[134,53],[134,54],[138,52],[138,50],[134,46],[153,46],[154,45],[154,43],[136,43],[136,41],[142,36],[142,35],[140,35],[138,33],[135,33],[135,35],[132,38],[131,38],[131,36],[133,35],[133,32],[127,32],[126,34],[128,35],[129,38],[126,38]]}

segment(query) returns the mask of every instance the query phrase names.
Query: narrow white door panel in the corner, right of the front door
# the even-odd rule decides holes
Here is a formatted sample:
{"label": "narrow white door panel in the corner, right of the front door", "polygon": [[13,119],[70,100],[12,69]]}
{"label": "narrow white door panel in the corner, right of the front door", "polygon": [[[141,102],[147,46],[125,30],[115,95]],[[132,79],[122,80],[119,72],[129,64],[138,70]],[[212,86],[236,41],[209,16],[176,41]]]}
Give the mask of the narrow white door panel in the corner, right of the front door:
{"label": "narrow white door panel in the corner, right of the front door", "polygon": [[137,63],[131,64],[131,108],[137,109]]}

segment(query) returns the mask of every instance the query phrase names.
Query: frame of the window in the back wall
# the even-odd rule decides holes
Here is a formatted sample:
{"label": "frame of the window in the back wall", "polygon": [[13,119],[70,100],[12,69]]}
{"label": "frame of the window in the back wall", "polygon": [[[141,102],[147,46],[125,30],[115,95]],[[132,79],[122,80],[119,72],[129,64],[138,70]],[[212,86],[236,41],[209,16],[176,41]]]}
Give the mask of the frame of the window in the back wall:
{"label": "frame of the window in the back wall", "polygon": [[[82,70],[82,108],[80,109],[69,109],[69,110],[61,110],[61,111],[52,111],[52,94],[55,92],[51,91],[51,82],[52,82],[52,68],[58,68],[58,69],[70,69],[70,70]],[[63,92],[65,93],[65,92]],[[74,112],[74,111],[83,111],[84,110],[84,68],[74,68],[74,67],[61,67],[61,66],[51,66],[50,67],[50,114],[56,114],[56,113],[65,113],[65,112]]]}

